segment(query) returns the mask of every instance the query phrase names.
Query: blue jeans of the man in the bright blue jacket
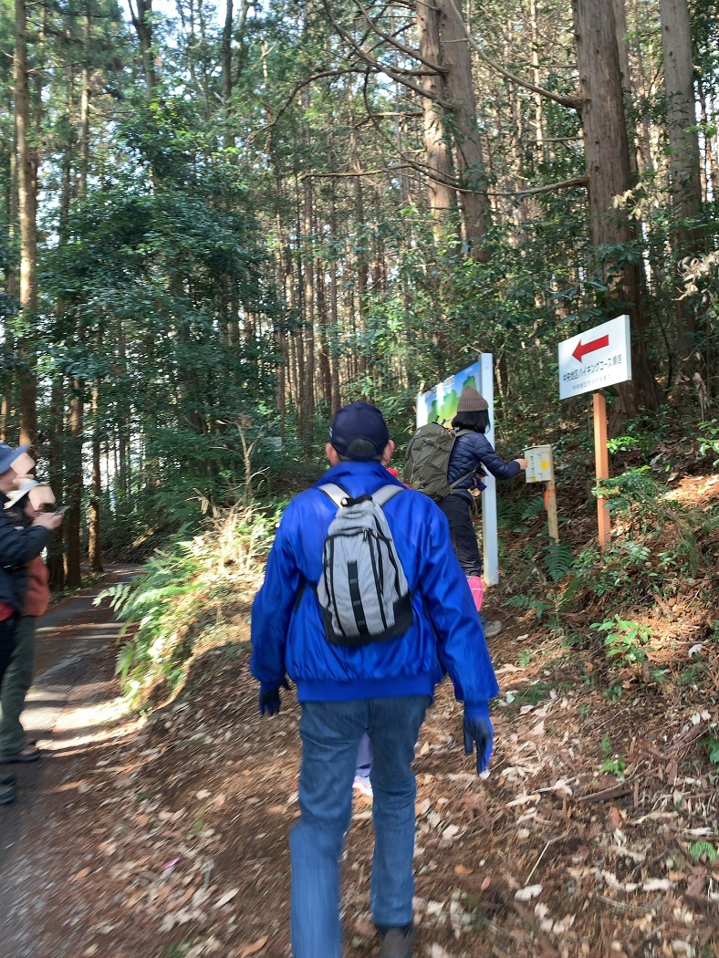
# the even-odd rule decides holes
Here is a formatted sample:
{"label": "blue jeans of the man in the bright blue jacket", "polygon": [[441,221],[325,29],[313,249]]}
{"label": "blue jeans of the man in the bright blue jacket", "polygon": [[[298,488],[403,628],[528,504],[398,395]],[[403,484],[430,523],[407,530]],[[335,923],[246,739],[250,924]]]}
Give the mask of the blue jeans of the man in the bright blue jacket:
{"label": "blue jeans of the man in the bright blue jacket", "polygon": [[304,702],[300,735],[300,819],[290,833],[293,958],[340,958],[339,858],[352,815],[359,741],[366,732],[374,760],[375,852],[372,917],[386,927],[412,921],[414,743],[429,696]]}

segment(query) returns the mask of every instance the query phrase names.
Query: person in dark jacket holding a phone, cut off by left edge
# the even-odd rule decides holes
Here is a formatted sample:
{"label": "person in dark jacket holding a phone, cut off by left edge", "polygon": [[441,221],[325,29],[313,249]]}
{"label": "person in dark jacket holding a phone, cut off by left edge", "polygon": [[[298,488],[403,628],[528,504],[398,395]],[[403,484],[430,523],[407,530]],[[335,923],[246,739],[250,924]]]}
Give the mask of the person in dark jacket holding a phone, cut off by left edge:
{"label": "person in dark jacket holding a phone, cut off by left edge", "polygon": [[[17,484],[13,465],[27,452],[28,446],[13,449],[0,443],[0,687],[14,649],[17,617],[24,600],[25,566],[45,548],[48,536],[62,522],[55,513],[38,515],[27,529],[16,529],[5,505]],[[12,775],[0,777],[0,805],[12,802],[15,784]]]}

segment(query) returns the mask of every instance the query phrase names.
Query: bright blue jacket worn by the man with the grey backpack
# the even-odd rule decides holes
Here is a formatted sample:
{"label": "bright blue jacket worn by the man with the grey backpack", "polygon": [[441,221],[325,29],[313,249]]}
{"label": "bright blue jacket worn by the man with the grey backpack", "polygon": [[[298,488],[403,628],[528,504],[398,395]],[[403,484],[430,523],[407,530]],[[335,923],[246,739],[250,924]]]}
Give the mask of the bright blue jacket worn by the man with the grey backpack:
{"label": "bright blue jacket worn by the man with the grey backpack", "polygon": [[499,688],[472,593],[447,519],[421,492],[405,490],[383,509],[412,594],[412,626],[396,639],[354,648],[327,641],[313,586],[336,513],[316,487],[329,482],[352,496],[402,485],[380,463],[340,463],[292,499],[252,605],[251,673],[276,686],[288,673],[300,701],[336,701],[431,696],[448,672],[468,715],[473,706],[486,709]]}

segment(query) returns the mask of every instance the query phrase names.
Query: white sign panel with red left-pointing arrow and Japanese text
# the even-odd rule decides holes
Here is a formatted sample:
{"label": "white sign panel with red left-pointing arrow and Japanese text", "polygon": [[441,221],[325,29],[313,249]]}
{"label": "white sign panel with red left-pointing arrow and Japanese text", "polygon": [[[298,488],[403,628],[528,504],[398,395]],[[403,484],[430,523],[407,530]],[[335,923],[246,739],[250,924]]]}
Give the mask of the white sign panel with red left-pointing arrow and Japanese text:
{"label": "white sign panel with red left-pointing arrow and Japanese text", "polygon": [[596,392],[631,378],[629,316],[617,316],[559,344],[560,399]]}

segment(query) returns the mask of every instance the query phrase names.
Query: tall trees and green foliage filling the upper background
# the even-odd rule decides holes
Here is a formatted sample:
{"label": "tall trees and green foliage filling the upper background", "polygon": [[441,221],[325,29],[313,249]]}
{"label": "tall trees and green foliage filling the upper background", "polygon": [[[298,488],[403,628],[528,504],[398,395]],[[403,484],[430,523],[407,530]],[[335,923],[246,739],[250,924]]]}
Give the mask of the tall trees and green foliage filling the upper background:
{"label": "tall trees and green foliage filling the upper background", "polygon": [[515,445],[549,435],[586,408],[557,343],[621,313],[615,417],[710,415],[710,0],[2,0],[0,47],[0,436],[70,506],[56,582],[342,402],[402,447],[479,352]]}

